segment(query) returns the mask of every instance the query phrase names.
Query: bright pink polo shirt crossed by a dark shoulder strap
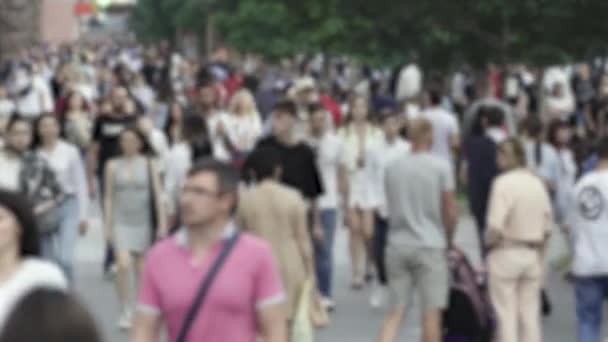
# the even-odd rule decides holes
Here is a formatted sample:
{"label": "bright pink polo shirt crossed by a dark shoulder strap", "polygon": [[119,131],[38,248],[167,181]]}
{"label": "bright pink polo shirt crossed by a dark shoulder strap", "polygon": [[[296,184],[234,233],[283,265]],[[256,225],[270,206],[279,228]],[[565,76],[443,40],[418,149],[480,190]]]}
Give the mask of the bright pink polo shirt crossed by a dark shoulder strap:
{"label": "bright pink polo shirt crossed by a dark shoulder strap", "polygon": [[[234,234],[227,228],[225,238]],[[218,242],[199,266],[194,266],[187,247],[187,231],[155,245],[146,257],[138,311],[162,315],[175,341],[196,296],[203,276],[219,255]],[[188,341],[255,342],[257,310],[285,299],[278,268],[269,245],[241,234],[211,286]]]}

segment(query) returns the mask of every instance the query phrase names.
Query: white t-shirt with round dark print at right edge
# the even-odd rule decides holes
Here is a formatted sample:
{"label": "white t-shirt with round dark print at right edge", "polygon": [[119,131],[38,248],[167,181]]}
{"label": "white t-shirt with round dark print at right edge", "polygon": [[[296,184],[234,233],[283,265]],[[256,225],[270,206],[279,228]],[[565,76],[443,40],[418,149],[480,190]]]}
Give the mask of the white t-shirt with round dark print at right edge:
{"label": "white t-shirt with round dark print at right edge", "polygon": [[572,229],[576,276],[608,275],[608,171],[585,175],[575,186],[568,225]]}

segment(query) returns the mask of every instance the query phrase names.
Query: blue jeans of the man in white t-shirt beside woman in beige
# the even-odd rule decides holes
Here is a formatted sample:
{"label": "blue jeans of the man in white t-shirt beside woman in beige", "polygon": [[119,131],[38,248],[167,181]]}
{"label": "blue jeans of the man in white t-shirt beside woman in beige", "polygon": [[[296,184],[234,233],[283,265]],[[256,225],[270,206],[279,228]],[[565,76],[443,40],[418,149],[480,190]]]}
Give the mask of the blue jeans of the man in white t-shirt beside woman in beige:
{"label": "blue jeans of the man in white t-shirt beside woman in beige", "polygon": [[317,283],[323,297],[331,298],[331,283],[333,277],[334,235],[336,233],[336,209],[321,210],[321,225],[323,226],[323,241],[314,242],[315,266]]}

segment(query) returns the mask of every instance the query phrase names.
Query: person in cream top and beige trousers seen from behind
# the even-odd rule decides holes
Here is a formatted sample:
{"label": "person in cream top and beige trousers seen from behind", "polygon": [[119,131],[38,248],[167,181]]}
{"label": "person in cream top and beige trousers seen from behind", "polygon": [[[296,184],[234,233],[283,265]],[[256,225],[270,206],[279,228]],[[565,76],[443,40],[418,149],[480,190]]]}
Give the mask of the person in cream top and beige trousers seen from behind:
{"label": "person in cream top and beige trousers seen from behind", "polygon": [[539,297],[553,226],[551,200],[544,182],[526,167],[518,140],[498,146],[497,164],[503,174],[492,185],[486,232],[497,341],[541,342]]}

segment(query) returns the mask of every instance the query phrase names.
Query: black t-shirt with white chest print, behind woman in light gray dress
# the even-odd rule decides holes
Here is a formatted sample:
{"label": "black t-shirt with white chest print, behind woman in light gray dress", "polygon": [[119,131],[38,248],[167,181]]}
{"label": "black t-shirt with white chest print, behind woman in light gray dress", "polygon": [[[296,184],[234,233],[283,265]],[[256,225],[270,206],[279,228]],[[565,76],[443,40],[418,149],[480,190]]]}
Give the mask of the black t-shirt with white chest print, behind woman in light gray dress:
{"label": "black t-shirt with white chest print, behind woman in light gray dress", "polygon": [[103,174],[106,162],[120,155],[119,137],[122,131],[135,125],[135,116],[98,116],[93,125],[93,141],[99,144],[98,174]]}

